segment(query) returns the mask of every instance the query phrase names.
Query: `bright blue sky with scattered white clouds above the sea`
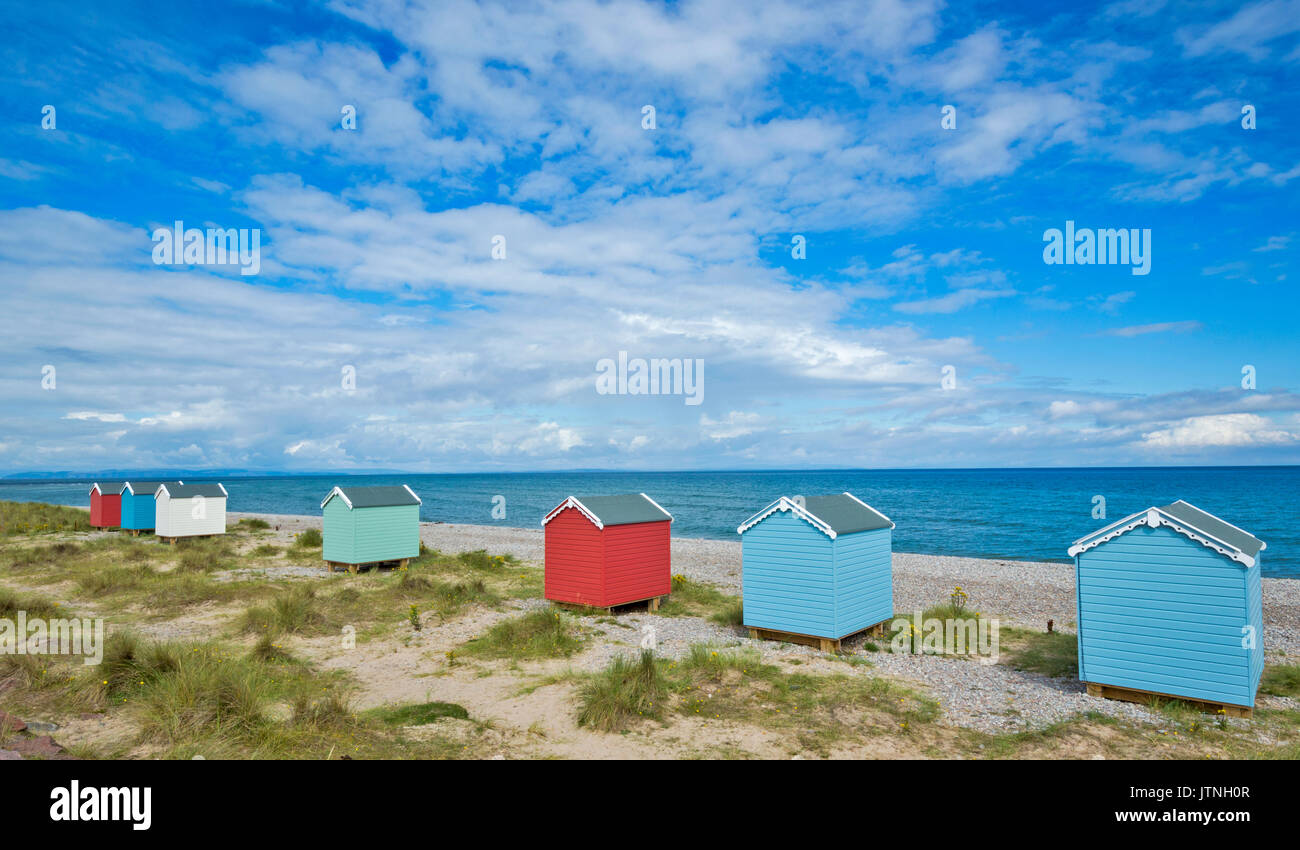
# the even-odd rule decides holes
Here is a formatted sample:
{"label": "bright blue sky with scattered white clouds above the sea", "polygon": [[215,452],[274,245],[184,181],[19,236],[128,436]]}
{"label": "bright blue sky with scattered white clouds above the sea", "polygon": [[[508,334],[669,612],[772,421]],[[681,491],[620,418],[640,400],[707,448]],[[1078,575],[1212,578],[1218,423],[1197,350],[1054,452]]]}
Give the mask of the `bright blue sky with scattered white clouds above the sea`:
{"label": "bright blue sky with scattered white clouds above the sea", "polygon": [[1300,461],[1296,0],[3,6],[0,470]]}

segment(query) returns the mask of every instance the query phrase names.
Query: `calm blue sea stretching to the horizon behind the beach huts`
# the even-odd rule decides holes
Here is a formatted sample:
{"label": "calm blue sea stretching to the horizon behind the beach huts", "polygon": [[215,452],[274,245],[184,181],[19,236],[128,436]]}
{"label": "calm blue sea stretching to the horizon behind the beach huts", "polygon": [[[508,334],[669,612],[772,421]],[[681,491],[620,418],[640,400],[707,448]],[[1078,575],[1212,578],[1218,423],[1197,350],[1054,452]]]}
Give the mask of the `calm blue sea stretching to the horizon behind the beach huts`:
{"label": "calm blue sea stretching to the horizon behind the beach huts", "polygon": [[[198,478],[186,477],[187,481]],[[407,483],[425,521],[540,528],[564,496],[644,491],[673,515],[673,535],[737,539],[736,526],[780,495],[852,491],[897,525],[894,551],[1069,561],[1088,532],[1186,499],[1269,547],[1265,576],[1300,577],[1300,467],[1147,469],[907,469],[861,472],[572,472],[225,478],[231,511],[320,515],[334,483]],[[0,481],[0,499],[88,504],[88,483]],[[493,519],[493,498],[506,519]],[[1093,519],[1093,496],[1106,499]]]}

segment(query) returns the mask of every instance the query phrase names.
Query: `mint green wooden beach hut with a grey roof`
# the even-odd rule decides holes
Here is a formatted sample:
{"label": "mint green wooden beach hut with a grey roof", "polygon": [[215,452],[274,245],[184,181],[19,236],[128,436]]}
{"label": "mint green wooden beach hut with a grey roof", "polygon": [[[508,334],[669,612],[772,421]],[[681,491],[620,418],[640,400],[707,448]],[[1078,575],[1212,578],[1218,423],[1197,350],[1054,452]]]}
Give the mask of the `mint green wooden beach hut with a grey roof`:
{"label": "mint green wooden beach hut with a grey roof", "polygon": [[420,496],[402,485],[334,487],[321,502],[321,556],[330,569],[420,556]]}

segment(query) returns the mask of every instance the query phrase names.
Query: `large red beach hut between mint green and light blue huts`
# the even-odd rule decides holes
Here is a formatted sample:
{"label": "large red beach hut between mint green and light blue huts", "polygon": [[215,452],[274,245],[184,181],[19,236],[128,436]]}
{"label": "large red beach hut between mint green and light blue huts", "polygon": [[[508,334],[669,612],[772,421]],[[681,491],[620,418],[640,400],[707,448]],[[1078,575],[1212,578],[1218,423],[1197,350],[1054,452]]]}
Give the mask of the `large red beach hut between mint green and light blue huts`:
{"label": "large red beach hut between mint green and light blue huts", "polygon": [[672,590],[672,515],[644,493],[569,496],[542,519],[545,595],[555,602],[612,608]]}

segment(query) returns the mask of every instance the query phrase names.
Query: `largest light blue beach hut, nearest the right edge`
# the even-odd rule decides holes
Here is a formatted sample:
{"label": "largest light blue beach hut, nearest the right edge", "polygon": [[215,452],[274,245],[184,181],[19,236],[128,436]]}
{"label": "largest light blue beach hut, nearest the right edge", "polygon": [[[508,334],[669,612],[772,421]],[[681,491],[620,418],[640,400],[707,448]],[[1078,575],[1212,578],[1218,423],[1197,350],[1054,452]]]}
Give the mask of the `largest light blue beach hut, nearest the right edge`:
{"label": "largest light blue beach hut, nearest the right edge", "polygon": [[1249,716],[1264,672],[1264,547],[1187,502],[1075,541],[1079,678],[1088,693],[1178,697]]}

